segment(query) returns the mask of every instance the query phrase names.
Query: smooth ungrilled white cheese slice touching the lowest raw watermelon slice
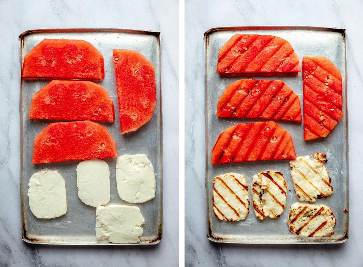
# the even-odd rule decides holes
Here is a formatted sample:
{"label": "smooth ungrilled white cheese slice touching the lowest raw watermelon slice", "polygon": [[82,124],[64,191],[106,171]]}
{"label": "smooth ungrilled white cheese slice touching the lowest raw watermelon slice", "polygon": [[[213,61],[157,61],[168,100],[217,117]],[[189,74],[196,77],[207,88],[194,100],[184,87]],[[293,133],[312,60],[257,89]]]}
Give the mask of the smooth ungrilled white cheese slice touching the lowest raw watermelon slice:
{"label": "smooth ungrilled white cheese slice touching the lowest raw watermelon slice", "polygon": [[85,160],[77,166],[78,196],[86,205],[110,202],[110,169],[104,160]]}

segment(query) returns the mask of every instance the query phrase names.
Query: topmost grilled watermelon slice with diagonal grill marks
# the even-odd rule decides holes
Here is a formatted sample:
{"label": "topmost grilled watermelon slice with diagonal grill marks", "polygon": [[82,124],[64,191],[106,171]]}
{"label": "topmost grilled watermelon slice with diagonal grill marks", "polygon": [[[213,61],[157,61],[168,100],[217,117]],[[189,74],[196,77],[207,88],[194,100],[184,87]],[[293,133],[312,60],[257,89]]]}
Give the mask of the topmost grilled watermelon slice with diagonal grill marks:
{"label": "topmost grilled watermelon slice with diagonal grill marks", "polygon": [[234,34],[219,50],[217,73],[300,72],[299,58],[286,40]]}

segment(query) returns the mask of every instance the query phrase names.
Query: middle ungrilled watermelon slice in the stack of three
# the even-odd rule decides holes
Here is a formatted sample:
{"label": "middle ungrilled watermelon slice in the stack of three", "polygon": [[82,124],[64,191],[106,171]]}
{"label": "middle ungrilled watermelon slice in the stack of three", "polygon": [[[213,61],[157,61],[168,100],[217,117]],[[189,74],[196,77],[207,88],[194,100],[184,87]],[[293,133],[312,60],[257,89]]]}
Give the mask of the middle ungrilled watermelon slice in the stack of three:
{"label": "middle ungrilled watermelon slice in the stack of three", "polygon": [[91,81],[53,80],[32,97],[28,119],[115,120],[106,89]]}

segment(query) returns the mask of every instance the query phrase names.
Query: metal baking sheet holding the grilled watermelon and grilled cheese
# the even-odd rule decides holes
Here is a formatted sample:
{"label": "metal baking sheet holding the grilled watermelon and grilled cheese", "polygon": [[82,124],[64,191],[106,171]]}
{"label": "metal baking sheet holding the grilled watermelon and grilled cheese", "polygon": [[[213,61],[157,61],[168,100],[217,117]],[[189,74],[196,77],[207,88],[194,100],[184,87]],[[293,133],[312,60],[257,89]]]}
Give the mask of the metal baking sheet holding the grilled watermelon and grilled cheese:
{"label": "metal baking sheet holding the grilled watermelon and grilled cheese", "polygon": [[[263,120],[217,118],[217,101],[225,87],[240,79],[282,80],[300,98],[302,109],[302,73],[292,74],[238,74],[219,75],[216,73],[219,48],[236,33],[275,35],[289,41],[297,53],[300,64],[303,56],[325,56],[340,70],[343,78],[343,118],[331,133],[320,139],[304,141],[303,124],[275,121],[291,133],[297,156],[319,151],[327,154],[324,164],[329,171],[334,193],[316,204],[326,204],[334,212],[337,224],[332,237],[301,237],[291,233],[286,219],[291,204],[298,201],[291,179],[288,160],[241,162],[224,165],[211,165],[211,151],[219,134],[236,123],[251,123]],[[221,27],[208,30],[205,34],[205,144],[206,144],[206,194],[207,194],[207,237],[215,242],[228,243],[341,243],[348,238],[348,111],[347,111],[347,72],[346,34],[344,29],[278,26],[278,27]],[[249,214],[238,222],[219,221],[213,213],[213,177],[236,172],[246,178],[249,191],[254,174],[266,170],[280,171],[286,180],[286,208],[278,219],[256,218],[250,196]]]}

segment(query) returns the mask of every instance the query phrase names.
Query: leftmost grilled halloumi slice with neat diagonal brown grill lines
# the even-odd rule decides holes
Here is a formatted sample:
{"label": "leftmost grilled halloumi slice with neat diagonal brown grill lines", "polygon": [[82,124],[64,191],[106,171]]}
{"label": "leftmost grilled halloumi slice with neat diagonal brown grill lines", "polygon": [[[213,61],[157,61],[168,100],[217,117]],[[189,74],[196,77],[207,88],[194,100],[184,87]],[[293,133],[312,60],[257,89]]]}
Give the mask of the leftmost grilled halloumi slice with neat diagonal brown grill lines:
{"label": "leftmost grilled halloumi slice with neat diagonal brown grill lines", "polygon": [[239,221],[248,215],[248,187],[238,173],[226,173],[213,178],[213,212],[221,221]]}

